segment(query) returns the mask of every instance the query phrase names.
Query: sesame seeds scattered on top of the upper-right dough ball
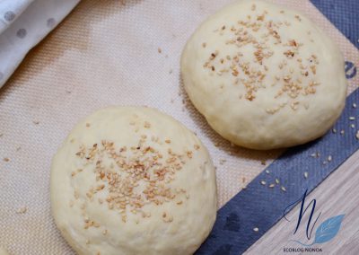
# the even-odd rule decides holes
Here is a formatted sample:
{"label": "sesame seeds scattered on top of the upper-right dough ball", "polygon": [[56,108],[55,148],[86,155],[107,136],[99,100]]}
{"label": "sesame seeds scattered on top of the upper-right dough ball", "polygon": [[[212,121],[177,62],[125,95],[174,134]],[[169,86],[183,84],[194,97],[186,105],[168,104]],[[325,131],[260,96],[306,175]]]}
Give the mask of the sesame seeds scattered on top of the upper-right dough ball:
{"label": "sesame seeds scattered on top of the upper-right dough ball", "polygon": [[[274,114],[286,105],[297,110],[300,97],[316,93],[316,87],[320,85],[316,81],[320,59],[314,53],[307,55],[300,40],[284,39],[282,33],[293,29],[292,23],[285,20],[285,15],[283,10],[270,14],[267,10],[259,11],[256,4],[252,4],[245,19],[232,25],[223,24],[213,31],[224,38],[226,47],[236,49],[232,50],[234,53],[221,53],[219,48],[215,48],[203,65],[209,75],[223,75],[229,77],[230,84],[244,86],[240,100],[255,101],[259,90],[268,87],[276,89],[274,98],[285,100],[277,101],[273,108],[268,108],[268,114]],[[274,19],[276,16],[279,18]],[[302,22],[300,15],[293,16],[293,22]],[[313,43],[311,31],[307,34]],[[207,42],[202,43],[202,48],[210,47]],[[271,57],[279,57],[281,61],[275,66],[268,65]],[[272,77],[269,72],[278,75]],[[308,104],[303,106],[309,108]]]}

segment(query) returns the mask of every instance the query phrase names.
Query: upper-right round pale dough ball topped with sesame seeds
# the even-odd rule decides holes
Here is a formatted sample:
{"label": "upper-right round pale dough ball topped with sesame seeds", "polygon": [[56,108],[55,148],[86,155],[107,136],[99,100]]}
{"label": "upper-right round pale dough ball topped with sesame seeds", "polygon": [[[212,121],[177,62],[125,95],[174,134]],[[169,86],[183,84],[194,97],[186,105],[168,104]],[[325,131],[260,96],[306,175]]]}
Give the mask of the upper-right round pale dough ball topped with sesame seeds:
{"label": "upper-right round pale dough ball topped with sesame seeds", "polygon": [[322,136],[346,100],[344,59],[302,13],[239,1],[203,22],[181,57],[186,91],[221,136],[273,149]]}

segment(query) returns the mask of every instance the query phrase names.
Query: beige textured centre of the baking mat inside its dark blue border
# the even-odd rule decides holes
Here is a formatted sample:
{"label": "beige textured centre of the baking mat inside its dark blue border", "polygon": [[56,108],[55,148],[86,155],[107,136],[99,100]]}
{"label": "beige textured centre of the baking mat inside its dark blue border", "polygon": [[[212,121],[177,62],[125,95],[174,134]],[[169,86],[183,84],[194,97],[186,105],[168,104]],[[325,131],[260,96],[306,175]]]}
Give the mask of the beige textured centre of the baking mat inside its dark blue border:
{"label": "beige textured centre of the baking mat inside its dark blue border", "polygon": [[[50,162],[74,123],[104,106],[155,107],[196,131],[217,166],[219,207],[281,153],[232,147],[181,89],[186,40],[228,2],[83,0],[31,51],[0,90],[0,246],[13,254],[73,254],[50,215]],[[358,66],[354,46],[308,1],[276,2],[310,16]]]}

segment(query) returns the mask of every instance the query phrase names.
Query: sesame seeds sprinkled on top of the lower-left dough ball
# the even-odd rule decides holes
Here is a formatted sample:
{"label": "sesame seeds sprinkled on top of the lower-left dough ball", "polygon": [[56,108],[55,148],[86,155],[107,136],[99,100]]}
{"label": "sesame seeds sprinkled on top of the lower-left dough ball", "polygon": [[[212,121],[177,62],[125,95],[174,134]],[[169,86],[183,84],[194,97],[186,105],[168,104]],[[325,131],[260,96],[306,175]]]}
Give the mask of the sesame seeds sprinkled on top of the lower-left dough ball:
{"label": "sesame seeds sprinkled on top of the lower-left dough ball", "polygon": [[[146,211],[146,205],[161,206],[164,203],[174,203],[181,206],[189,199],[186,189],[173,188],[171,182],[176,179],[176,173],[194,156],[200,145],[194,145],[193,151],[184,149],[181,154],[171,149],[171,139],[160,139],[158,136],[140,135],[140,128],[135,122],[129,125],[138,134],[136,145],[116,145],[109,140],[91,146],[80,145],[75,157],[81,161],[82,168],[71,172],[71,179],[75,180],[81,174],[93,172],[92,187],[81,196],[74,189],[74,200],[80,203],[83,215],[83,227],[101,227],[99,223],[90,219],[86,213],[87,203],[97,203],[117,211],[123,223],[127,222],[127,215],[138,215],[139,218],[151,217]],[[143,123],[144,129],[151,128],[147,121]],[[86,123],[86,128],[90,128]],[[74,142],[72,140],[72,142]],[[158,146],[165,146],[165,153],[161,153]],[[84,199],[84,200],[83,200]],[[162,221],[170,223],[173,216],[170,212],[162,212]],[[106,234],[107,230],[103,231]]]}

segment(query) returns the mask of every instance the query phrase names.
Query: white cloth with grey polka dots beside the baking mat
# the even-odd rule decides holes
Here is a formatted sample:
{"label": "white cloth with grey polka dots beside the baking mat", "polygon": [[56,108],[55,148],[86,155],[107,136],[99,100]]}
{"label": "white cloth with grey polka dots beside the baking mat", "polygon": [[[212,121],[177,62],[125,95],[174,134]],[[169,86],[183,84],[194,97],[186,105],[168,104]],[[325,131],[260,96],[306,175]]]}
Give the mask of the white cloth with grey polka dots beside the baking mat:
{"label": "white cloth with grey polka dots beside the baking mat", "polygon": [[0,0],[0,88],[80,0]]}

